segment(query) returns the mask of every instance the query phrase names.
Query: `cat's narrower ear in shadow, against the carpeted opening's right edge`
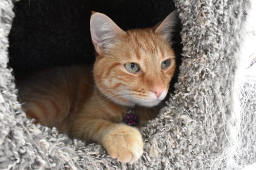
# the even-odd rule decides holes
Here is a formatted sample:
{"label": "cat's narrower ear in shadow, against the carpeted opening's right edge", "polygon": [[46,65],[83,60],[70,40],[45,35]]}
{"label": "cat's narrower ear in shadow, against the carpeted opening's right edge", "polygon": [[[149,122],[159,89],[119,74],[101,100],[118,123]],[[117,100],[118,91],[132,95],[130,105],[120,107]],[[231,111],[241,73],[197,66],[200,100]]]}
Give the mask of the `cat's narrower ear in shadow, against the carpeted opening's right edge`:
{"label": "cat's narrower ear in shadow, against the carpeted opening's right edge", "polygon": [[178,13],[177,10],[169,14],[162,22],[153,27],[155,33],[162,34],[166,40],[170,40],[172,33],[178,24]]}

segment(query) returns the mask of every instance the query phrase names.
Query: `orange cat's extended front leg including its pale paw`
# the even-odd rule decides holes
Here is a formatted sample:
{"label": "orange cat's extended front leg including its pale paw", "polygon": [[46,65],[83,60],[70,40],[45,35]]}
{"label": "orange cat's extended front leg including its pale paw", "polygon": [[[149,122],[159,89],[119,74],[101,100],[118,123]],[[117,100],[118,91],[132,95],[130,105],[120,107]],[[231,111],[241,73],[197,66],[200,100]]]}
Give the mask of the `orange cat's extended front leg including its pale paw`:
{"label": "orange cat's extended front leg including its pale paw", "polygon": [[104,119],[88,119],[76,122],[74,136],[101,144],[112,158],[120,162],[132,163],[142,155],[143,140],[138,129]]}

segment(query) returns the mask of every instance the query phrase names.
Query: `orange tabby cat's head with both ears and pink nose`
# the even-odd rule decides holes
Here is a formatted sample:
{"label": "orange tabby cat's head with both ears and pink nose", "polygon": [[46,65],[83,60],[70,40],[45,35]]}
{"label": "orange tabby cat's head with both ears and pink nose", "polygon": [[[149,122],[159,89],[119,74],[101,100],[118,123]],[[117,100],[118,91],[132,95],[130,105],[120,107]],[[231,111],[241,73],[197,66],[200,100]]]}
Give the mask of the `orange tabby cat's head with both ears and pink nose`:
{"label": "orange tabby cat's head with both ears and pink nose", "polygon": [[161,102],[176,69],[175,52],[170,45],[176,24],[174,11],[158,26],[125,32],[106,15],[93,12],[93,74],[100,92],[126,106],[151,107]]}

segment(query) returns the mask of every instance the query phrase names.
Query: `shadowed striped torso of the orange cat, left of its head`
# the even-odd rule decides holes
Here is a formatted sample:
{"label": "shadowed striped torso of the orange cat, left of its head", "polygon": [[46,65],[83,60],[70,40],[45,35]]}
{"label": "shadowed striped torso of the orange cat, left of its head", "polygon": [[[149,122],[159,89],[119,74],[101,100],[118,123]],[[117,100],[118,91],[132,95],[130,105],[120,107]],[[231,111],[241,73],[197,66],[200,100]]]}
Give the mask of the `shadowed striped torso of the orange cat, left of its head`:
{"label": "shadowed striped torso of the orange cat, left of its head", "polygon": [[63,121],[68,126],[82,104],[92,95],[92,68],[49,68],[17,79],[17,86],[22,107],[30,118],[66,131],[66,128],[60,127]]}

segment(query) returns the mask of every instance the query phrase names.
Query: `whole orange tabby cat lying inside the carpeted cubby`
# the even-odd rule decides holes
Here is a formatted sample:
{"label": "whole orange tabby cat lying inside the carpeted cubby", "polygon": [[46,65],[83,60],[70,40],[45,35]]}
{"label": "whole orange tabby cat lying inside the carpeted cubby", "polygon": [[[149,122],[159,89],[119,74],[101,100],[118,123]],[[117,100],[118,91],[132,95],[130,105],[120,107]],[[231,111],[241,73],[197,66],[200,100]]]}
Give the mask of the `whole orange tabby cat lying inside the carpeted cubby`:
{"label": "whole orange tabby cat lying inside the carpeted cubby", "polygon": [[158,26],[124,32],[109,17],[93,13],[93,67],[51,68],[24,77],[18,87],[23,109],[45,126],[101,144],[112,158],[134,162],[143,152],[137,128],[122,123],[133,108],[138,125],[156,117],[176,69],[170,47],[174,11]]}

